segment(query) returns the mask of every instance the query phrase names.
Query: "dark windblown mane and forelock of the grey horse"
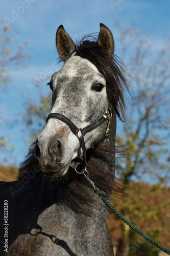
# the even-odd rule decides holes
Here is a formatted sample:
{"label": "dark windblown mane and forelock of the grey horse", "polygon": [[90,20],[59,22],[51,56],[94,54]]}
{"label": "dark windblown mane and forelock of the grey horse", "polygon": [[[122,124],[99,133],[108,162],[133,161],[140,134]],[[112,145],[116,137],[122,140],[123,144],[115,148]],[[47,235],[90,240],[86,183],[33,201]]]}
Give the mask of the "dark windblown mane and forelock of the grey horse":
{"label": "dark windblown mane and forelock of the grey horse", "polygon": [[[116,108],[122,112],[124,117],[125,102],[123,91],[124,88],[128,89],[128,86],[123,75],[123,62],[121,62],[116,55],[110,55],[107,49],[100,46],[94,37],[92,37],[92,39],[93,40],[89,40],[89,37],[86,36],[78,41],[76,53],[77,55],[92,62],[99,72],[104,75],[106,78],[108,99],[112,105],[115,105]],[[111,129],[113,129],[113,127],[111,127]],[[30,146],[26,161],[22,162],[20,165],[18,179],[27,174],[35,165],[38,165],[38,161],[34,157],[34,148],[35,142]],[[102,157],[103,160],[107,162],[110,161],[110,159],[113,159],[114,156],[115,146],[112,144],[112,142],[110,142],[110,144],[103,142],[96,146],[93,153],[90,154],[88,161],[88,170],[90,172],[91,180],[94,181],[94,184],[97,187],[109,194],[112,190],[111,181],[113,181],[115,178],[114,173],[109,172],[109,170],[105,168],[105,166],[103,166],[98,159]],[[53,179],[53,181],[56,181],[56,179]],[[79,201],[79,199],[83,199],[83,203],[86,201],[87,195],[84,187],[89,186],[89,184],[84,181],[81,175],[76,174],[76,172],[71,168],[69,168],[64,177],[57,178],[57,182],[64,186],[67,190],[70,190],[71,193],[68,193],[70,202],[73,202],[73,198],[77,201]],[[114,185],[114,193],[117,193],[116,185]]]}

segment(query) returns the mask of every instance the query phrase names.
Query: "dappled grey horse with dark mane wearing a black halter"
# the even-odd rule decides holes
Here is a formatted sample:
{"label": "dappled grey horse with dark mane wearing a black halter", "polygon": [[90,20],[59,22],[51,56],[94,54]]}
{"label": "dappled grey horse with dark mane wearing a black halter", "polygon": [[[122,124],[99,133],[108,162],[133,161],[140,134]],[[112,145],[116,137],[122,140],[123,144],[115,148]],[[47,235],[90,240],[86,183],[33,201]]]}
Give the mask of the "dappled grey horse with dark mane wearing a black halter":
{"label": "dappled grey horse with dark mane wearing a black halter", "polygon": [[77,45],[62,25],[57,30],[64,65],[48,83],[50,115],[17,181],[1,182],[1,255],[113,255],[108,209],[84,179],[89,174],[111,197],[116,114],[127,86],[112,33],[100,27],[98,38]]}

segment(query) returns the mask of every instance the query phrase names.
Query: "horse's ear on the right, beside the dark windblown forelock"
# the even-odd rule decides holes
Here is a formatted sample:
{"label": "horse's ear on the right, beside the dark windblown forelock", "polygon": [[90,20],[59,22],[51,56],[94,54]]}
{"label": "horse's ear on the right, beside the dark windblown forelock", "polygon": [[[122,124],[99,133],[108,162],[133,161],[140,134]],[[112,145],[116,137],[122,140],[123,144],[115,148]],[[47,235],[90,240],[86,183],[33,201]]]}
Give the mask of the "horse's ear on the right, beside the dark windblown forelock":
{"label": "horse's ear on the right, beside the dark windblown forelock", "polygon": [[104,24],[100,24],[101,31],[98,37],[98,44],[105,46],[108,52],[113,55],[114,52],[114,40],[111,31]]}

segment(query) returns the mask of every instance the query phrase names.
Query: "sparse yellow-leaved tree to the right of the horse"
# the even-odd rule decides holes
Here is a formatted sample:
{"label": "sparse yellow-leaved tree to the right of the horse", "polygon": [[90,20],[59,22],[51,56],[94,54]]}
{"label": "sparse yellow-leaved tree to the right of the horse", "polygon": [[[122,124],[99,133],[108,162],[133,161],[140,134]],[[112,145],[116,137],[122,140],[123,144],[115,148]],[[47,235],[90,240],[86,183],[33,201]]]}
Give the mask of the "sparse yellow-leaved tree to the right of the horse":
{"label": "sparse yellow-leaved tree to the right of the horse", "polygon": [[[161,190],[163,184],[169,184],[169,38],[165,37],[164,45],[157,49],[149,34],[145,35],[134,26],[122,27],[119,22],[116,26],[120,31],[119,44],[133,97],[133,101],[127,97],[128,125],[122,123],[117,129],[116,145],[126,145],[124,149],[129,149],[116,159],[116,174],[122,181],[123,192],[129,195],[132,195],[131,180],[157,183],[156,186],[142,189],[142,194],[140,185],[137,186],[138,197],[122,200],[119,210],[142,228],[141,222],[149,227],[151,221],[159,220],[159,226],[150,226],[144,230],[155,240],[159,240],[158,233],[166,225],[165,216],[168,214],[163,213],[163,210],[169,209],[169,199],[162,202],[162,205],[156,205],[157,207],[151,207],[143,199],[147,196],[149,200],[154,200],[154,191]],[[120,225],[123,236],[120,241],[121,255],[135,255],[137,250],[133,254],[130,246],[133,231],[123,222]],[[144,248],[144,244],[142,246]],[[146,246],[147,255],[154,255],[154,248],[151,249],[148,244]],[[144,251],[139,254],[138,251],[137,255],[146,254]]]}

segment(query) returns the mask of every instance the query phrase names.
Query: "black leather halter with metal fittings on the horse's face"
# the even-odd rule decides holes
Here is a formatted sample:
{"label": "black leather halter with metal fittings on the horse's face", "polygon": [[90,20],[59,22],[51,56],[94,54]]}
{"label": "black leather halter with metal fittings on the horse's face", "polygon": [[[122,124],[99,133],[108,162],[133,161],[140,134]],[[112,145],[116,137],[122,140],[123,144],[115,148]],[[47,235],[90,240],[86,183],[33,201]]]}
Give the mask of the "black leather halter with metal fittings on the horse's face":
{"label": "black leather halter with metal fittings on the horse's face", "polygon": [[81,146],[82,151],[83,151],[83,165],[84,165],[84,167],[87,167],[86,145],[85,145],[85,142],[84,142],[84,136],[87,133],[93,131],[96,127],[100,126],[105,121],[108,121],[107,129],[106,129],[106,134],[105,134],[105,137],[107,137],[108,134],[109,134],[109,126],[110,126],[111,114],[112,114],[112,106],[109,103],[109,108],[108,108],[106,114],[103,115],[97,122],[89,124],[89,125],[85,126],[83,129],[82,128],[79,129],[66,116],[64,116],[62,114],[58,114],[58,113],[51,113],[51,114],[49,114],[47,116],[46,122],[50,118],[57,118],[57,119],[63,121],[64,123],[66,123],[70,127],[71,132],[74,133],[76,135],[76,137],[80,141],[80,146]]}

